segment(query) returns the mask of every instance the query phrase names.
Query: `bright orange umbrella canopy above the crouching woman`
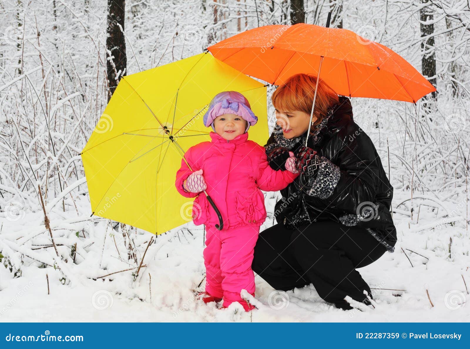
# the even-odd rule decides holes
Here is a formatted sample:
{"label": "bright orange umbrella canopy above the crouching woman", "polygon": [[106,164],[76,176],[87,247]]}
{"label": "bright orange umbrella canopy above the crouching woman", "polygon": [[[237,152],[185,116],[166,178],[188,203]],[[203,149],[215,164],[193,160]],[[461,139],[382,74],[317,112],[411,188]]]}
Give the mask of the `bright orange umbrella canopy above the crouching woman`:
{"label": "bright orange umbrella canopy above the crouching woman", "polygon": [[436,91],[404,58],[340,28],[313,24],[266,25],[207,48],[219,60],[274,85],[297,73],[313,73],[338,95],[415,103]]}

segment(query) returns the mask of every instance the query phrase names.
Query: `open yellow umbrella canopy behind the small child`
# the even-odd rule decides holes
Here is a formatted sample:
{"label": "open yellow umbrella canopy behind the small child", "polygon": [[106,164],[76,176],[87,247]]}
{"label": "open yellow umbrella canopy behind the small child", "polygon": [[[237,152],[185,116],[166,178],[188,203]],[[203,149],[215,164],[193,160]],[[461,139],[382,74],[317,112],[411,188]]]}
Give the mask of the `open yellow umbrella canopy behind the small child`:
{"label": "open yellow umbrella canopy behind the small child", "polygon": [[202,118],[227,90],[251,103],[249,139],[264,143],[266,86],[207,52],[122,78],[81,152],[93,214],[154,234],[191,221],[176,171],[184,151],[211,140]]}

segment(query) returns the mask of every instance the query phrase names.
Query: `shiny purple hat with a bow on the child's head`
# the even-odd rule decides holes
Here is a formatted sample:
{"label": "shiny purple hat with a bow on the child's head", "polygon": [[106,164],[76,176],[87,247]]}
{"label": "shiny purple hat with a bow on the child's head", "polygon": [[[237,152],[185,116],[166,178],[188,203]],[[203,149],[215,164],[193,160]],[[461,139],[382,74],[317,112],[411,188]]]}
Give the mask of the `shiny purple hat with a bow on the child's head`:
{"label": "shiny purple hat with a bow on the child's head", "polygon": [[203,122],[205,127],[211,126],[215,132],[214,119],[223,114],[235,114],[242,119],[248,121],[248,126],[245,132],[248,131],[250,126],[253,126],[258,121],[248,100],[239,92],[236,91],[223,91],[212,98],[209,107],[204,114]]}

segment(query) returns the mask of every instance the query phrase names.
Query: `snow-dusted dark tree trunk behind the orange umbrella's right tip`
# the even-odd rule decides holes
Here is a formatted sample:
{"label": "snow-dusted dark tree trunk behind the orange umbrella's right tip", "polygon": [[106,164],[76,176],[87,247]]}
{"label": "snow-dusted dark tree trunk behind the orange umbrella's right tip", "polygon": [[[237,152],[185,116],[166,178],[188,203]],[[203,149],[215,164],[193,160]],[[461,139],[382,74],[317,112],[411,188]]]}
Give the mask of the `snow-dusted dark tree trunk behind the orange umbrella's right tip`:
{"label": "snow-dusted dark tree trunk behind the orange umbrella's right tip", "polygon": [[[428,3],[428,0],[421,0],[422,3]],[[430,21],[433,19],[432,9],[429,7],[422,8],[420,10],[420,20]],[[420,23],[421,37],[432,35],[434,33],[434,24],[423,24]],[[421,42],[421,49],[423,50],[423,58],[421,59],[421,72],[426,77],[434,77],[429,79],[429,82],[436,87],[437,80],[436,75],[436,51],[434,48],[434,37],[424,39]],[[436,100],[436,92],[432,92],[431,96],[425,95],[423,107],[425,110],[428,110],[429,103],[432,100]]]}

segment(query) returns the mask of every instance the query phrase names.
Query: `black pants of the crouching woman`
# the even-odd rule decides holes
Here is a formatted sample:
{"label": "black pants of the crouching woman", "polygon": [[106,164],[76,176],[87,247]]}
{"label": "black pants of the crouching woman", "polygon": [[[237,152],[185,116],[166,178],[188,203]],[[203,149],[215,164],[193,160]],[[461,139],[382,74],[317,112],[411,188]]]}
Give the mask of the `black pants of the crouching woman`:
{"label": "black pants of the crouching woman", "polygon": [[337,308],[364,301],[370,288],[356,268],[375,262],[386,249],[370,233],[331,220],[286,230],[276,224],[259,234],[251,268],[276,290],[313,284]]}

